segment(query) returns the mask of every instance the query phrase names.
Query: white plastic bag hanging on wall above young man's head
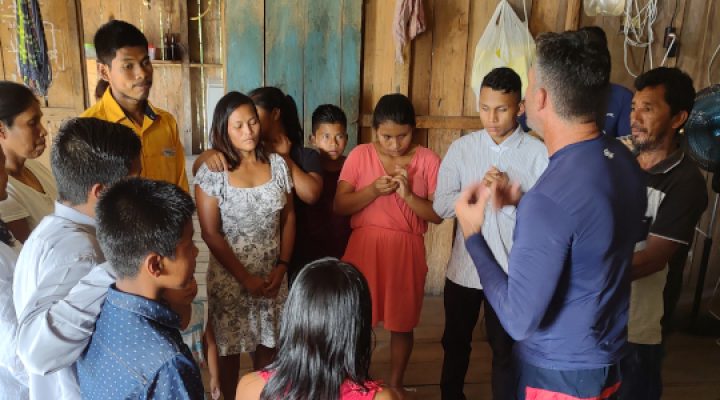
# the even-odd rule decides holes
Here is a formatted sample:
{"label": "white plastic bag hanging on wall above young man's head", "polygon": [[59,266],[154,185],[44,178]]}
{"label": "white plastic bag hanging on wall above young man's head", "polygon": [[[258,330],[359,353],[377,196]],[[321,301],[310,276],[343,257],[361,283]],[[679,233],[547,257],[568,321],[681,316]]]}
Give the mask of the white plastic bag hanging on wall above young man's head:
{"label": "white plastic bag hanging on wall above young man's head", "polygon": [[518,18],[507,0],[500,0],[495,13],[475,46],[470,85],[475,92],[475,107],[480,109],[480,85],[488,72],[498,67],[512,68],[522,80],[522,94],[535,58],[535,40],[527,25],[527,9],[523,1],[525,21]]}

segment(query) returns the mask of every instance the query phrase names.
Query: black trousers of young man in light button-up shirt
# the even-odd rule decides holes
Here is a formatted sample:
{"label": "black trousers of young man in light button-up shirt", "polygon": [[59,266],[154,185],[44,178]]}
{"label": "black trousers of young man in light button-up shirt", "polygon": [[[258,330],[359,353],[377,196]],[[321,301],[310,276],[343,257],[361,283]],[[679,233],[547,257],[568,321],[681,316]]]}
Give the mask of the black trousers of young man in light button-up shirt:
{"label": "black trousers of young man in light button-up shirt", "polygon": [[[443,400],[464,400],[463,386],[472,351],[472,332],[485,300],[482,290],[471,289],[445,279],[445,332],[440,389]],[[493,352],[493,399],[511,399],[514,391],[512,346],[492,307],[485,301],[485,329]]]}

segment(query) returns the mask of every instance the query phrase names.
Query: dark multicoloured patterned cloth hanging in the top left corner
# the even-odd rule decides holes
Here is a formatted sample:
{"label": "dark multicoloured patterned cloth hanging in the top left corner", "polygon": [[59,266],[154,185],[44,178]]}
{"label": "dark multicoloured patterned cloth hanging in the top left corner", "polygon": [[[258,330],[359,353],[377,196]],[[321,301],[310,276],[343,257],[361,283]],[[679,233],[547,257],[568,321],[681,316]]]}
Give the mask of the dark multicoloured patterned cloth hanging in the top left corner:
{"label": "dark multicoloured patterned cloth hanging in the top left corner", "polygon": [[23,82],[45,98],[52,83],[52,68],[38,0],[16,0],[18,71]]}

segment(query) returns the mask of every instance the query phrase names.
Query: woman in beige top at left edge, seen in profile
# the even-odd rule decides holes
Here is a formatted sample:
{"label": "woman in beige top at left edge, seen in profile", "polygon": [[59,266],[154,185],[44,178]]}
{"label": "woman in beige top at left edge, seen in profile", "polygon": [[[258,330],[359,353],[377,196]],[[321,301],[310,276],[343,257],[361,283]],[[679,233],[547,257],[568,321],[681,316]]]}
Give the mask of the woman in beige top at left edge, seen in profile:
{"label": "woman in beige top at left edge, seen in profile", "polygon": [[46,148],[47,131],[35,95],[26,86],[0,81],[0,145],[9,175],[8,198],[0,215],[21,243],[55,208],[57,187],[50,171],[35,159]]}

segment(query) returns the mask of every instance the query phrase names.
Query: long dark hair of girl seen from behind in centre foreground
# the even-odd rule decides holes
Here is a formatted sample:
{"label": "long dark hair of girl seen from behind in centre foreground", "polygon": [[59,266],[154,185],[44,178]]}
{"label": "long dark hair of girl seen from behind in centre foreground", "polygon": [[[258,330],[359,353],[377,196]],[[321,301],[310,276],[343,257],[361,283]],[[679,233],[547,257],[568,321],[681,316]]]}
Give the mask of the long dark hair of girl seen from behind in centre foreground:
{"label": "long dark hair of girl seen from behind in centre foreground", "polygon": [[338,399],[370,380],[372,301],[365,277],[325,258],[300,271],[285,303],[280,344],[261,399]]}

